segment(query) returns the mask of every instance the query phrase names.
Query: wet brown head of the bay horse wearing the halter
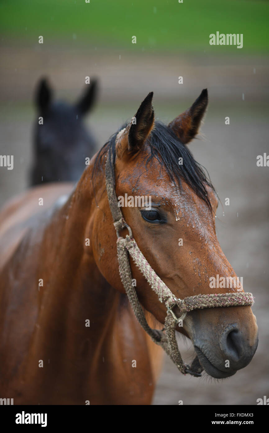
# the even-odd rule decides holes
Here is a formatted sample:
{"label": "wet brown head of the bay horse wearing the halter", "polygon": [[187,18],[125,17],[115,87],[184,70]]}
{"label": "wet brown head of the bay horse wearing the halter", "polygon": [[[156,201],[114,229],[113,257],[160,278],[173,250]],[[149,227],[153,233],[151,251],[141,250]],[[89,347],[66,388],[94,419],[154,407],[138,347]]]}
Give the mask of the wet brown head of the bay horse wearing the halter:
{"label": "wet brown head of the bay horse wearing the halter", "polygon": [[[215,232],[218,197],[187,148],[205,114],[207,90],[168,126],[155,122],[152,96],[146,97],[132,121],[99,153],[101,158],[109,148],[113,154],[115,192],[123,218],[142,254],[176,298],[243,291],[241,285],[225,285],[237,276]],[[141,197],[150,197],[150,206]],[[104,216],[98,215],[93,225],[98,232],[93,247],[96,263],[111,286],[124,293],[105,194],[98,206]],[[102,253],[101,244],[107,246]],[[130,266],[140,303],[165,323],[167,308],[131,258]],[[212,287],[213,278],[222,284]],[[176,308],[175,312],[180,316]],[[200,365],[214,378],[227,378],[244,368],[258,344],[250,306],[190,311],[177,331],[191,339]]]}

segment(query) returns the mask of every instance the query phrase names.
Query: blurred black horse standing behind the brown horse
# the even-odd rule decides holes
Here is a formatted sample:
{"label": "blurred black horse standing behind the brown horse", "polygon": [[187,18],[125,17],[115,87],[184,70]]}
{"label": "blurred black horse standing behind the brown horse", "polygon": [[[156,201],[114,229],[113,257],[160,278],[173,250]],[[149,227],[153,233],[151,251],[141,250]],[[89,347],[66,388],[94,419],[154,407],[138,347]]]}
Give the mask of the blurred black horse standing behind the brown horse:
{"label": "blurred black horse standing behind the brown horse", "polygon": [[[92,110],[97,81],[91,80],[85,94],[73,105],[54,101],[52,90],[42,79],[35,93],[38,114],[34,127],[33,165],[30,184],[79,180],[85,158],[96,152],[96,142],[85,128],[83,117]],[[39,117],[43,124],[39,124]]]}

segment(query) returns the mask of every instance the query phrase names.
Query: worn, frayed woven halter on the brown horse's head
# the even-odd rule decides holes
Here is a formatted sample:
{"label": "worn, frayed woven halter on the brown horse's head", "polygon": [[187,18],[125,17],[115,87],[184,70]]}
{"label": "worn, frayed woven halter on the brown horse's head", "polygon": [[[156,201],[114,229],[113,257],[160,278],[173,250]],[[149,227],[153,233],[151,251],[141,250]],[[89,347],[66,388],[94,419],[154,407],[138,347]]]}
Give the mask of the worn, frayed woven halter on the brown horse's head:
{"label": "worn, frayed woven halter on the brown horse's head", "polygon": [[[136,319],[139,321],[142,328],[149,334],[152,340],[161,346],[170,356],[174,364],[177,365],[179,371],[183,374],[191,374],[199,377],[203,371],[196,356],[191,366],[185,365],[180,355],[177,346],[175,329],[177,324],[182,323],[186,314],[189,311],[214,308],[214,307],[237,307],[253,305],[253,296],[251,293],[236,292],[236,293],[220,293],[220,294],[205,294],[189,296],[183,300],[176,298],[167,285],[158,277],[155,271],[147,262],[146,258],[140,251],[133,239],[130,226],[124,221],[115,192],[115,176],[114,176],[114,161],[111,149],[107,154],[105,165],[106,189],[108,194],[108,203],[111,210],[114,227],[117,232],[117,255],[119,262],[120,278],[127,297],[133,308]],[[127,228],[129,234],[123,238],[119,235],[120,230]],[[130,268],[129,254],[133,261],[142,272],[152,290],[158,295],[159,301],[167,307],[167,316],[165,318],[165,333],[163,330],[155,330],[150,328],[146,321],[142,306],[139,303],[135,287],[132,285],[132,273]],[[181,316],[177,317],[173,308],[177,305],[181,311]]]}

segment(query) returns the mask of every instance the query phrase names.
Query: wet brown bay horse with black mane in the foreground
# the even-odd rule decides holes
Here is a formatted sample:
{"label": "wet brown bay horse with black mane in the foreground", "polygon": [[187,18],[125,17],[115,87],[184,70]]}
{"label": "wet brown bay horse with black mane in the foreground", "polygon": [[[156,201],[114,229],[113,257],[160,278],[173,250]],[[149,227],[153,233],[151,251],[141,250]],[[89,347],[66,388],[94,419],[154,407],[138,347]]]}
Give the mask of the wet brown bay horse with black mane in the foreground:
{"label": "wet brown bay horse with black mane in the foreground", "polygon": [[[149,94],[132,122],[92,158],[73,191],[70,184],[37,187],[2,210],[1,397],[14,404],[151,403],[163,351],[140,327],[120,280],[105,188],[108,151],[117,197],[152,197],[151,209],[122,207],[122,213],[173,294],[182,299],[233,291],[209,287],[210,277],[236,275],[216,238],[214,188],[186,146],[207,100],[203,90],[165,126],[154,123]],[[160,329],[166,308],[130,262],[139,301]],[[214,378],[244,368],[258,342],[249,306],[192,311],[177,331],[191,339]]]}

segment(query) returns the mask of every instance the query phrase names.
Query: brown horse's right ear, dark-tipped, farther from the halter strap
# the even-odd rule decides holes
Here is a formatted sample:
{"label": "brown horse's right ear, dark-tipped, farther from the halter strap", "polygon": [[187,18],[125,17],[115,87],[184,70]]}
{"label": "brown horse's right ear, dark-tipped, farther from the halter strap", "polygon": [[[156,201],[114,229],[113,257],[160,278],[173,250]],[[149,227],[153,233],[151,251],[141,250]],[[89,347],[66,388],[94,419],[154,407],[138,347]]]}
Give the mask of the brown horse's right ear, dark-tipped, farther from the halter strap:
{"label": "brown horse's right ear, dark-tipped, farther from the halter strap", "polygon": [[169,123],[168,127],[173,130],[183,144],[190,142],[198,133],[207,104],[207,89],[203,89],[193,105]]}

